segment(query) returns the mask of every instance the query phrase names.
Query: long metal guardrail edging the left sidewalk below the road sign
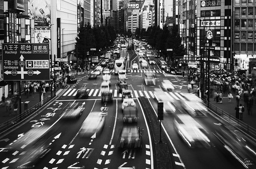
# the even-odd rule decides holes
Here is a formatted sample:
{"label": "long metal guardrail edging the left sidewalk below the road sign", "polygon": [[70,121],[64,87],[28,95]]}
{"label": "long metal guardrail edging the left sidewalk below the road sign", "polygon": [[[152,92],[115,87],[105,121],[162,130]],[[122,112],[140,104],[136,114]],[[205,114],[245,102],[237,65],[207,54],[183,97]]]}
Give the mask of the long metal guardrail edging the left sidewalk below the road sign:
{"label": "long metal guardrail edging the left sidewalk below the road sign", "polygon": [[33,115],[38,109],[40,109],[42,106],[46,105],[48,102],[50,102],[53,98],[56,97],[56,93],[52,93],[50,96],[46,97],[41,102],[36,103],[32,107],[24,110],[22,114],[19,114],[15,116],[14,118],[6,121],[5,123],[0,124],[0,133],[6,133],[7,131],[10,131],[10,129],[14,128],[18,123],[26,120],[29,116]]}

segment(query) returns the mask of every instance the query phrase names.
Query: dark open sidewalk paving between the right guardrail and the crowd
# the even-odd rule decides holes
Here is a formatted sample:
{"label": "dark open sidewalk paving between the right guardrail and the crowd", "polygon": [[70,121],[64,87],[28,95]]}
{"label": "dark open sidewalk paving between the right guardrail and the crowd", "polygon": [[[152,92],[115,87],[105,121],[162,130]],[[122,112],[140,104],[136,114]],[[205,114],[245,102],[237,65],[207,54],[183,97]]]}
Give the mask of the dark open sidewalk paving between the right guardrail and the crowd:
{"label": "dark open sidewalk paving between the right guardrail and the crowd", "polygon": [[[237,106],[237,101],[235,98],[231,99],[231,103],[228,103],[228,98],[223,97],[223,103],[217,103],[214,101],[214,98],[210,98],[210,103],[219,107],[220,109],[226,111],[229,115],[236,118],[236,110],[234,109]],[[256,129],[256,104],[255,100],[253,101],[253,106],[251,107],[252,115],[248,115],[247,106],[244,104],[244,98],[241,98],[240,103],[244,106],[245,111],[243,113],[243,120],[242,122],[246,123],[247,125],[251,126],[252,128]]]}

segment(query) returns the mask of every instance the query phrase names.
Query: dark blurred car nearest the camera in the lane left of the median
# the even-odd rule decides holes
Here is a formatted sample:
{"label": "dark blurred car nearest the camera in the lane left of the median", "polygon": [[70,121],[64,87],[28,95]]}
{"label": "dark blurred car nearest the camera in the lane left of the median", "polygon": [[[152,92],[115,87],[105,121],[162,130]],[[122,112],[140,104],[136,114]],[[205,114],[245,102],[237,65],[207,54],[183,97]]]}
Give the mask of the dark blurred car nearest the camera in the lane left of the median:
{"label": "dark blurred car nearest the camera in the lane left of the median", "polygon": [[141,148],[142,134],[138,126],[123,126],[117,147],[118,148]]}

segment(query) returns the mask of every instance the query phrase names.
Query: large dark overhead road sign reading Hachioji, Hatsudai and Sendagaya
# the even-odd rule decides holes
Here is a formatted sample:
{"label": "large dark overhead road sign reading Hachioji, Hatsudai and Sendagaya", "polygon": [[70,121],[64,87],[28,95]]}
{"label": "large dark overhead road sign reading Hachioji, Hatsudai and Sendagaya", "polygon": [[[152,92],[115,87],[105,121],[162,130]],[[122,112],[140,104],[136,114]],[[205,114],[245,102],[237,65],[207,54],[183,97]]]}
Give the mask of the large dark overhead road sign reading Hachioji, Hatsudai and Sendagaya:
{"label": "large dark overhead road sign reading Hachioji, Hatsudai and Sendagaya", "polygon": [[4,80],[50,80],[47,43],[2,44]]}

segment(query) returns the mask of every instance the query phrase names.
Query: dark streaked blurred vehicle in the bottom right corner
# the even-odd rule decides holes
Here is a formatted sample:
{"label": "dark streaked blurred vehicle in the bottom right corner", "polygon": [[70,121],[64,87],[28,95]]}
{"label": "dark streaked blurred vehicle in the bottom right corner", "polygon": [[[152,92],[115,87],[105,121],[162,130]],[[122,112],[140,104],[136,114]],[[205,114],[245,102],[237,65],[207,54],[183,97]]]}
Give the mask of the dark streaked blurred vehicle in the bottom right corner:
{"label": "dark streaked blurred vehicle in the bottom right corner", "polygon": [[216,129],[214,135],[219,140],[218,147],[223,148],[224,154],[230,153],[243,168],[256,168],[256,144],[251,138],[237,128],[224,125]]}

